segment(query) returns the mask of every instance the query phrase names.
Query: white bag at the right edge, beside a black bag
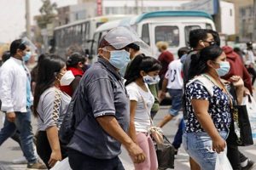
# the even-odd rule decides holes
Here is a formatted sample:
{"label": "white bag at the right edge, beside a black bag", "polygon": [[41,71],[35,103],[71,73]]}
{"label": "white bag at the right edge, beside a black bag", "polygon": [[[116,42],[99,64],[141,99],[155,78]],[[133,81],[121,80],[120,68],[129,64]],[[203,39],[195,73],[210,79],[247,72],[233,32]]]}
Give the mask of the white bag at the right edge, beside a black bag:
{"label": "white bag at the right edge, beside a black bag", "polygon": [[256,102],[253,96],[247,95],[242,99],[242,105],[247,106],[247,113],[252,128],[253,141],[256,142]]}

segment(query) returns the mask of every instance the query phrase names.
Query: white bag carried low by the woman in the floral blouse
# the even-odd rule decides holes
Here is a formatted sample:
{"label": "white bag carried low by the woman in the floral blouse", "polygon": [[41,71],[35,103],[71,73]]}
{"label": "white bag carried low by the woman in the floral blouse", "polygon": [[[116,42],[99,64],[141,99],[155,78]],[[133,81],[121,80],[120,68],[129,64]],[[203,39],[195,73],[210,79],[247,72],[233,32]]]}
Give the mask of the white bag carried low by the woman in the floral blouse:
{"label": "white bag carried low by the woman in the floral blouse", "polygon": [[233,170],[224,151],[217,154],[215,170]]}

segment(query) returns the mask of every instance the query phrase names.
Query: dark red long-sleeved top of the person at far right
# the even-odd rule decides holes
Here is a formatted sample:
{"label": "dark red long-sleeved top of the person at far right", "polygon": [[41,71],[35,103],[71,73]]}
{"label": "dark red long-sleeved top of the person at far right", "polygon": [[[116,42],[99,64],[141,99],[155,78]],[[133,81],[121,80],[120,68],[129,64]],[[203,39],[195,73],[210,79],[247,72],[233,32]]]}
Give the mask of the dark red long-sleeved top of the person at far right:
{"label": "dark red long-sleeved top of the person at far right", "polygon": [[240,76],[244,82],[244,86],[250,90],[251,94],[253,94],[251,77],[246,67],[242,64],[240,56],[229,46],[224,46],[223,50],[227,56],[227,60],[230,62],[230,71],[222,78],[229,80],[232,76]]}

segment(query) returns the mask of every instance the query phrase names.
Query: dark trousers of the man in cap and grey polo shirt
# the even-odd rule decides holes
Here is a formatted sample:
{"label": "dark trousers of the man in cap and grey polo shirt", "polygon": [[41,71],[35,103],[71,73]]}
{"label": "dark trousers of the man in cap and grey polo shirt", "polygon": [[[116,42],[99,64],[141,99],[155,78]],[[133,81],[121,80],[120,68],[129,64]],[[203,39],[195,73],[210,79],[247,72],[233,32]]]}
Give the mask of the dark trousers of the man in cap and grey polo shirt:
{"label": "dark trousers of the man in cap and grey polo shirt", "polygon": [[118,156],[113,159],[103,160],[86,156],[79,151],[69,149],[68,160],[73,170],[125,170]]}

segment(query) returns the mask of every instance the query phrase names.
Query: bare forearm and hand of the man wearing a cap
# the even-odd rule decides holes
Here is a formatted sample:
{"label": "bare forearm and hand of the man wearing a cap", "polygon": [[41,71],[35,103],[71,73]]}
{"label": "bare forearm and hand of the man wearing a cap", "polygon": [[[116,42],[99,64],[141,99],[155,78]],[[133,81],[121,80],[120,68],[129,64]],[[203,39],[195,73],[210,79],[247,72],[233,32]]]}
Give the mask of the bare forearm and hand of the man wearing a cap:
{"label": "bare forearm and hand of the man wearing a cap", "polygon": [[117,122],[114,116],[99,116],[96,117],[96,121],[100,123],[104,131],[110,136],[124,144],[134,163],[141,163],[145,160],[143,150],[119,126],[119,122]]}

